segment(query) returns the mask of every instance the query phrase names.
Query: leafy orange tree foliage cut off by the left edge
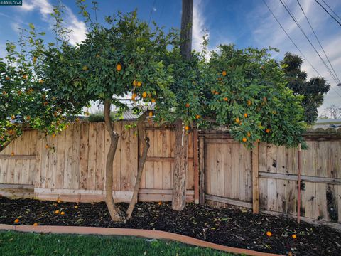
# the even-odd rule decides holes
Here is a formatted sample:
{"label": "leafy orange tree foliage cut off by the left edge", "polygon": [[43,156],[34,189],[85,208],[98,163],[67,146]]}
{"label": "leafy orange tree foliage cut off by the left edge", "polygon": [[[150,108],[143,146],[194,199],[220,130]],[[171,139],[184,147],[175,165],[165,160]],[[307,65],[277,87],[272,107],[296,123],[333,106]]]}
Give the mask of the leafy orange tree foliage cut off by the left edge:
{"label": "leafy orange tree foliage cut off by the left edge", "polygon": [[30,31],[22,30],[18,46],[6,43],[6,50],[0,59],[0,151],[27,128],[59,132],[82,107],[60,101],[45,87],[40,76],[44,46],[33,24]]}

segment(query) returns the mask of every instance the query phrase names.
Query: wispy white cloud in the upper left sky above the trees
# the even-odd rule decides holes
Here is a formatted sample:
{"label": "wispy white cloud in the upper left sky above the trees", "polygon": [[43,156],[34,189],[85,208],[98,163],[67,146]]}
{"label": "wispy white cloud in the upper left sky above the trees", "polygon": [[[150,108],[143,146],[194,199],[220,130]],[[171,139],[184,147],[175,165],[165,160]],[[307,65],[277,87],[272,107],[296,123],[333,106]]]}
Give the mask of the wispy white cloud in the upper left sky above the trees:
{"label": "wispy white cloud in the upper left sky above the trees", "polygon": [[[65,4],[63,4],[65,6]],[[53,13],[53,5],[48,0],[26,0],[23,1],[23,6],[20,6],[21,11],[39,11],[43,21],[49,23],[50,28],[53,27],[54,20],[50,16]],[[65,6],[65,28],[71,30],[70,43],[75,45],[85,40],[85,33],[87,31],[85,23],[80,21],[72,10]]]}

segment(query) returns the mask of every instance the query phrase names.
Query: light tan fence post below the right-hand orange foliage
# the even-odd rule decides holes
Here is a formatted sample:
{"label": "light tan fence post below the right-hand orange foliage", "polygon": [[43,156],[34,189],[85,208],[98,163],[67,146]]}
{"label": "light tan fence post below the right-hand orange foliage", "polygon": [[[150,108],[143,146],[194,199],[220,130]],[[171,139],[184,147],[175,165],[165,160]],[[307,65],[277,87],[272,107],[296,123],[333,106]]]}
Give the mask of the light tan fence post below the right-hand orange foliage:
{"label": "light tan fence post below the right-hand orange foliage", "polygon": [[259,213],[259,163],[258,163],[258,150],[259,143],[254,144],[252,149],[252,211],[253,213]]}

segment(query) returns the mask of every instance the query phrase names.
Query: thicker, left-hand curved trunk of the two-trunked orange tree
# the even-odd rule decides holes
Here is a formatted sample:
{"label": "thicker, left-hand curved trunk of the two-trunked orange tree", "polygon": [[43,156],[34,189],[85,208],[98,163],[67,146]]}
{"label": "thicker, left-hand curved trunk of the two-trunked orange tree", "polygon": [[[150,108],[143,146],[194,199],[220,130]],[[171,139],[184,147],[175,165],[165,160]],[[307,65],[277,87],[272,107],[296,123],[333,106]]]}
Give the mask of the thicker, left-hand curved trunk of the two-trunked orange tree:
{"label": "thicker, left-hand curved trunk of the two-trunked orange tree", "polygon": [[114,131],[112,120],[110,119],[111,105],[111,100],[104,101],[104,122],[111,139],[110,148],[107,155],[107,163],[105,166],[105,202],[107,203],[107,207],[112,220],[119,221],[121,220],[119,209],[115,205],[114,198],[112,196],[112,164],[114,162],[114,156],[117,149],[117,142],[119,142],[119,134]]}

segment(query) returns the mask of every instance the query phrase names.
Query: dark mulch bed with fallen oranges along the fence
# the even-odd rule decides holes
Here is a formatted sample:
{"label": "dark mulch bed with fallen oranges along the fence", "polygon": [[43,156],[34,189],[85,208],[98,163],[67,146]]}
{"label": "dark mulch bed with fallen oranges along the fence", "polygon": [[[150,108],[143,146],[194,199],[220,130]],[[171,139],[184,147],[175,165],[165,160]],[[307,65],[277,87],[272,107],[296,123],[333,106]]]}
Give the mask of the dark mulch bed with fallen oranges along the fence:
{"label": "dark mulch bed with fallen oranges along the fence", "polygon": [[[105,203],[56,203],[0,198],[0,223],[18,225],[78,225],[165,230],[220,245],[288,255],[341,255],[341,232],[326,226],[298,225],[291,218],[254,215],[247,211],[188,204],[171,210],[170,203],[138,203],[131,220],[114,223]],[[126,210],[127,204],[119,208]],[[55,210],[65,215],[55,214]],[[271,231],[272,236],[266,235]],[[296,234],[297,238],[292,238]]]}

